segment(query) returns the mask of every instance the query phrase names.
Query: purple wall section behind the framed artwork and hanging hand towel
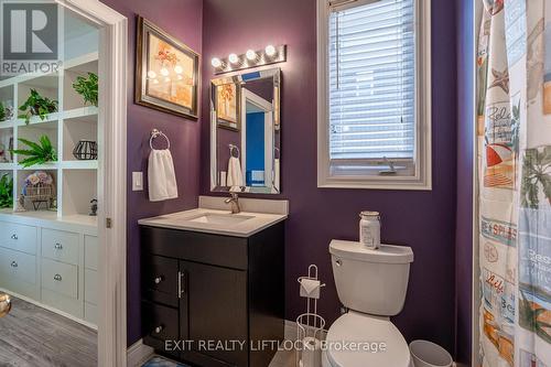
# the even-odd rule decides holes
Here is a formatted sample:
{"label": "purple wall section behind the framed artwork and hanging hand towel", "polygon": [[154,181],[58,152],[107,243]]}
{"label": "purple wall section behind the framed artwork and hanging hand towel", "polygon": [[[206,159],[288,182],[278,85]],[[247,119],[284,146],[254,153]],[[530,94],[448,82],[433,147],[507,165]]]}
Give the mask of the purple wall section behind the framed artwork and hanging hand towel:
{"label": "purple wall section behind the framed artwork and hanging hand towel", "polygon": [[[133,104],[136,15],[140,14],[184,42],[195,52],[202,52],[202,0],[101,0],[128,18],[128,158],[127,176],[127,247],[128,247],[128,345],[141,337],[140,325],[140,241],[139,218],[183,211],[197,205],[199,193],[201,123],[160,112]],[[208,114],[207,114],[208,116]],[[143,171],[147,182],[147,159],[150,151],[149,133],[158,128],[172,142],[172,155],[179,185],[177,199],[151,203],[147,191],[132,192],[132,171]]]}

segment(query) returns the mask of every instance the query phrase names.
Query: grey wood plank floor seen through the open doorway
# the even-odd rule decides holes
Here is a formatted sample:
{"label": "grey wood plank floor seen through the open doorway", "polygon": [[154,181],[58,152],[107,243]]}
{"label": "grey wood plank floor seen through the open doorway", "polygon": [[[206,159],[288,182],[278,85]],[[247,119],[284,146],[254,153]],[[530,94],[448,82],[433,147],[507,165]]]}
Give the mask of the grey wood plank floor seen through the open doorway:
{"label": "grey wood plank floor seen through the open doorway", "polygon": [[1,367],[96,365],[96,331],[12,298],[11,312],[0,319]]}

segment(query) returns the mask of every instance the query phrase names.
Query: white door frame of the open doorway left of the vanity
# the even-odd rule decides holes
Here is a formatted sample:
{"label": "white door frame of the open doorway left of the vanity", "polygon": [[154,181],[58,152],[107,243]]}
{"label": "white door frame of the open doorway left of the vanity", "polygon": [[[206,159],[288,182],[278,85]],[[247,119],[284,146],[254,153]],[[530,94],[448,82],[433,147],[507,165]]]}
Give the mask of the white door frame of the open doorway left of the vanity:
{"label": "white door frame of the open doorway left of the vanity", "polygon": [[128,21],[98,0],[55,1],[99,26],[98,366],[126,367]]}

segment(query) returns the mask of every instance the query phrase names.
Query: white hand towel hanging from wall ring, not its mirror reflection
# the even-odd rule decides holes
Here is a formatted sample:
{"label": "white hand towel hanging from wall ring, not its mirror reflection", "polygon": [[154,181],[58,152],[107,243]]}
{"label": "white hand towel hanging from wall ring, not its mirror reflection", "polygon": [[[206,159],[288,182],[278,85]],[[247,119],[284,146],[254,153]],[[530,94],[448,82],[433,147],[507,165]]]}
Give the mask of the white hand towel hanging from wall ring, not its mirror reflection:
{"label": "white hand towel hanging from wall ring, not its mirror reflection", "polygon": [[148,160],[149,199],[161,202],[177,197],[176,175],[170,150],[151,150]]}

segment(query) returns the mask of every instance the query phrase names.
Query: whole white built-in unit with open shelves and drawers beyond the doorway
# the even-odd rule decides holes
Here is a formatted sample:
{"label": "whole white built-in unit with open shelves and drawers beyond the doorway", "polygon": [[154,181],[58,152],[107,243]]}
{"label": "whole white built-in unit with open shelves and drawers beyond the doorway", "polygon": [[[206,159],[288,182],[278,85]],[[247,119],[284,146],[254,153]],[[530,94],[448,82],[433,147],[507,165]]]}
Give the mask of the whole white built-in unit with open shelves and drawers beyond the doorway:
{"label": "whole white built-in unit with open shelves and drawers beyond the doorway", "polygon": [[[73,89],[78,76],[98,73],[98,30],[85,19],[60,7],[62,67],[54,74],[19,75],[0,80],[0,101],[14,109],[9,121],[0,121],[0,143],[7,150],[22,148],[19,138],[37,141],[46,134],[55,147],[57,161],[23,168],[22,156],[2,155],[0,175],[13,177],[13,204],[25,177],[44,171],[52,175],[57,206],[42,204],[26,212],[0,209],[0,291],[85,325],[97,324],[98,222],[89,216],[90,201],[97,198],[98,161],[79,161],[73,149],[80,139],[98,141],[98,109],[86,106]],[[17,116],[31,88],[58,101],[58,111],[30,123]],[[18,147],[19,145],[19,147]],[[99,142],[101,147],[101,143]],[[3,160],[7,156],[8,160]]]}

